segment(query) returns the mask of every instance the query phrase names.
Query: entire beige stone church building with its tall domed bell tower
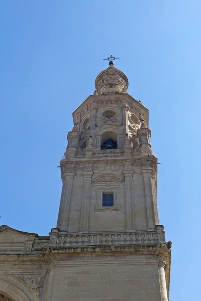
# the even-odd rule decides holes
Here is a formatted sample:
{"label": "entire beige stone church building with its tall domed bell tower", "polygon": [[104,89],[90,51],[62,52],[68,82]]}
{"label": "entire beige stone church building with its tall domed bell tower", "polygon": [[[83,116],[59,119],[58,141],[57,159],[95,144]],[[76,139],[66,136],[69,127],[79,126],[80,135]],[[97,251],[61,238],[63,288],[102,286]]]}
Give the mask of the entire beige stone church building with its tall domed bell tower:
{"label": "entire beige stone church building with its tall domed bell tower", "polygon": [[169,301],[148,109],[109,65],[73,112],[57,227],[0,227],[1,301]]}

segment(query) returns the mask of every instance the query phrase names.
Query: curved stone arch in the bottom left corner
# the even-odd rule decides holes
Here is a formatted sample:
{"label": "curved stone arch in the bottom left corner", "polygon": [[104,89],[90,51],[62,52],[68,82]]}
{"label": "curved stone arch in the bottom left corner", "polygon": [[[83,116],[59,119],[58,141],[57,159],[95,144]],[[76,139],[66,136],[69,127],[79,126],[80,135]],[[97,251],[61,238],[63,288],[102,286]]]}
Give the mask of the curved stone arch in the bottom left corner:
{"label": "curved stone arch in the bottom left corner", "polygon": [[0,297],[1,295],[5,298],[3,301],[38,301],[38,298],[28,289],[21,287],[8,277],[0,277]]}

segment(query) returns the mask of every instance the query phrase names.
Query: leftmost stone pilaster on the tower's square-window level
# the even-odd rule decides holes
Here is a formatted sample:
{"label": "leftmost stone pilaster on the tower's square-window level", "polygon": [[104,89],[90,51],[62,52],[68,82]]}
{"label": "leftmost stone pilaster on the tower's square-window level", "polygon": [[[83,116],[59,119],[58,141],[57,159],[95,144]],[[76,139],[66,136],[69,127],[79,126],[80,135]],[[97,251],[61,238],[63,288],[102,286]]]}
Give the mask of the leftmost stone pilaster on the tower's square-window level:
{"label": "leftmost stone pilaster on the tower's square-window level", "polygon": [[68,215],[70,209],[70,199],[72,192],[72,182],[74,173],[65,173],[61,176],[63,181],[61,201],[59,206],[59,216],[57,222],[57,228],[61,231],[67,231]]}

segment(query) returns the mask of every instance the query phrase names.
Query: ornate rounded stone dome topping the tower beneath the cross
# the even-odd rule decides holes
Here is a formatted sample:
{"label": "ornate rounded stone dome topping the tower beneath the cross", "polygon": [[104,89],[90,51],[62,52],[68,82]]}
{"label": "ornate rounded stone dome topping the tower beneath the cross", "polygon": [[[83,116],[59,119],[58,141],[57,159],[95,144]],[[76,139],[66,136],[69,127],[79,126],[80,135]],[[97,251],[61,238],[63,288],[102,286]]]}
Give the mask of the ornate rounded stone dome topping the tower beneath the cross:
{"label": "ornate rounded stone dome topping the tower beneath the cross", "polygon": [[95,79],[97,94],[126,93],[129,81],[126,75],[112,64],[100,72]]}

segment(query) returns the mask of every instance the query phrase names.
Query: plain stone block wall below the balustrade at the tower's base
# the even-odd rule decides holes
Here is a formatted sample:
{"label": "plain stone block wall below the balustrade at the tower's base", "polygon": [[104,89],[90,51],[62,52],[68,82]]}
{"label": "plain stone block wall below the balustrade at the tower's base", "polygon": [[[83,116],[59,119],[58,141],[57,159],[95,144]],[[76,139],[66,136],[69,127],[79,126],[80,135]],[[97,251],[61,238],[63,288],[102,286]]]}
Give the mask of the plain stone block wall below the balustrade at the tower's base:
{"label": "plain stone block wall below the balustrade at the tower's base", "polygon": [[52,264],[51,301],[161,301],[158,260],[136,256],[88,259]]}

